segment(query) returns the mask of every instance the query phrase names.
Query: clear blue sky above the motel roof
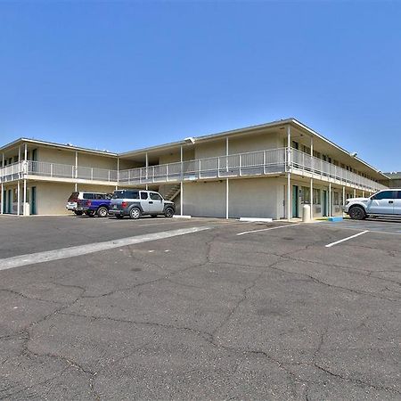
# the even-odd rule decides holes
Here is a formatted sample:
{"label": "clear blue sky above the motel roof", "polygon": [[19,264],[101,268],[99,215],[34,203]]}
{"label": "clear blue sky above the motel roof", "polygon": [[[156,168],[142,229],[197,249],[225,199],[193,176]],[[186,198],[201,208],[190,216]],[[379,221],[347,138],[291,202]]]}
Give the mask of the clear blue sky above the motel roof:
{"label": "clear blue sky above the motel roof", "polygon": [[127,151],[295,117],[401,170],[401,2],[0,3],[0,142]]}

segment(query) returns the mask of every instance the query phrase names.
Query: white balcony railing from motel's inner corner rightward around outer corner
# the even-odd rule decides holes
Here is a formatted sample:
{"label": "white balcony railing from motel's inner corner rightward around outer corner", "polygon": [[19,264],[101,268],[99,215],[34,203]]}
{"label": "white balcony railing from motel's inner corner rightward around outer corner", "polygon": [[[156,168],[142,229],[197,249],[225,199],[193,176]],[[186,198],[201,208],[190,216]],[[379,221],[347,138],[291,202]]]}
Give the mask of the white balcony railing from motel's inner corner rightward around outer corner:
{"label": "white balcony railing from motel's inner corner rightward around outer corner", "polygon": [[345,168],[334,166],[302,151],[288,148],[251,151],[148,168],[131,168],[119,172],[119,184],[156,184],[202,178],[258,176],[284,173],[289,170],[294,174],[308,173],[309,176],[320,178],[323,181],[340,182],[340,184],[357,186],[372,192],[386,188],[384,185],[352,173]]}

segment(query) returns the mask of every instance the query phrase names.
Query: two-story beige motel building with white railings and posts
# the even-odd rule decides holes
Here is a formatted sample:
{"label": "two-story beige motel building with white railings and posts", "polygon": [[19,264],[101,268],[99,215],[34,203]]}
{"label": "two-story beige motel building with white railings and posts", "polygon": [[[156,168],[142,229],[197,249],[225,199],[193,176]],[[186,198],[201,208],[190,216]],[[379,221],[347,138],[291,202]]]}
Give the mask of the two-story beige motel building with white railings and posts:
{"label": "two-story beige motel building with white railings and posts", "polygon": [[1,213],[68,213],[74,191],[149,188],[195,217],[340,215],[385,188],[380,171],[297,119],[111,153],[20,138],[0,148]]}

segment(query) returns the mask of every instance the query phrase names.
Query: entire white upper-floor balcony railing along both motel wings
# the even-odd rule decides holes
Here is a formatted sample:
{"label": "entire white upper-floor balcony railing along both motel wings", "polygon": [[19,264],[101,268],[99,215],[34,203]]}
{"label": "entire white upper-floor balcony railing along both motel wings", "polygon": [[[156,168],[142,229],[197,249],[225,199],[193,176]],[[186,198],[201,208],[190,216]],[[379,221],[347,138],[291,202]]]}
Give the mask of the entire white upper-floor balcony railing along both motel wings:
{"label": "entire white upper-floor balcony railing along both motel wings", "polygon": [[102,181],[113,184],[157,184],[206,178],[281,174],[287,171],[298,175],[313,176],[323,181],[356,186],[372,192],[386,188],[384,185],[345,168],[317,159],[302,151],[288,148],[185,160],[182,163],[131,168],[121,170],[119,173],[117,170],[104,168],[80,166],[76,168],[71,165],[46,161],[20,161],[0,168],[0,182],[14,181],[29,175]]}

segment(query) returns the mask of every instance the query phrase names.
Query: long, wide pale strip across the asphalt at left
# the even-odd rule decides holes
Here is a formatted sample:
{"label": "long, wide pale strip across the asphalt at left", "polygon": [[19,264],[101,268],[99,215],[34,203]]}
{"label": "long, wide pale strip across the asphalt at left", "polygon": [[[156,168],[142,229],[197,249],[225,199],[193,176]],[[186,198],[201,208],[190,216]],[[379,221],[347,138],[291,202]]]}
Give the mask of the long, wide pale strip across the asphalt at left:
{"label": "long, wide pale strip across the asphalt at left", "polygon": [[100,250],[112,250],[127,245],[135,245],[141,242],[163,240],[165,238],[176,237],[187,233],[198,233],[209,230],[209,226],[181,228],[179,230],[163,231],[160,233],[148,233],[135,237],[121,238],[119,240],[103,241],[78,245],[76,247],[63,248],[61,250],[46,250],[28,255],[20,255],[12,258],[0,259],[0,270],[12,269],[13,267],[33,265],[36,263],[50,262],[64,258],[73,258],[89,253],[99,252]]}

